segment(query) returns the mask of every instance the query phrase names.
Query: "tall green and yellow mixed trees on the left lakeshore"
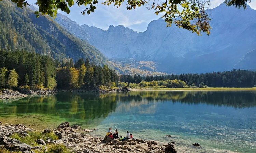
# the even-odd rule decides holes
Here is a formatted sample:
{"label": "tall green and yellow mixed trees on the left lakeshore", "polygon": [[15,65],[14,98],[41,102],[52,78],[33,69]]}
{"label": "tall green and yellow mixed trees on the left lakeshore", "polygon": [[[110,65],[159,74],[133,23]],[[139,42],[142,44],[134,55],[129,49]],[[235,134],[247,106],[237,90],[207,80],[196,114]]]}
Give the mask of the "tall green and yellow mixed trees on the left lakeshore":
{"label": "tall green and yellow mixed trees on the left lakeshore", "polygon": [[[1,49],[0,61],[1,88],[115,87],[119,80],[115,70],[110,70],[107,65],[96,66],[88,58],[86,61],[79,58],[74,64],[72,58],[59,62],[35,52]],[[12,82],[8,83],[10,80]]]}

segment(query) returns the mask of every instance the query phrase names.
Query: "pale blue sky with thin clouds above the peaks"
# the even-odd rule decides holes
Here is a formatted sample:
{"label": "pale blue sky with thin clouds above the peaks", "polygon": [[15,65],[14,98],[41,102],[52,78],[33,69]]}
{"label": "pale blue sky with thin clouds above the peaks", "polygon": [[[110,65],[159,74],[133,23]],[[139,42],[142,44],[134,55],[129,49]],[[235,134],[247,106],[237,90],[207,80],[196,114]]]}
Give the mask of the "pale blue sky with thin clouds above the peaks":
{"label": "pale blue sky with thin clouds above the peaks", "polygon": [[[151,21],[161,18],[161,15],[154,14],[154,10],[148,10],[145,6],[136,7],[135,10],[127,10],[125,3],[122,3],[121,6],[117,8],[113,4],[109,6],[101,4],[103,1],[99,1],[99,4],[95,5],[96,10],[91,12],[90,15],[87,13],[82,15],[81,12],[84,11],[86,7],[78,7],[76,3],[70,8],[69,14],[61,10],[58,11],[58,13],[66,15],[80,26],[86,24],[107,30],[110,25],[124,25],[137,32],[146,31],[147,25]],[[32,2],[35,3],[35,0],[32,0]],[[210,0],[210,2],[210,8],[215,8],[224,2],[224,0]],[[148,1],[148,3],[150,3],[150,1]],[[256,9],[256,0],[252,0],[251,3],[248,4],[251,8]]]}

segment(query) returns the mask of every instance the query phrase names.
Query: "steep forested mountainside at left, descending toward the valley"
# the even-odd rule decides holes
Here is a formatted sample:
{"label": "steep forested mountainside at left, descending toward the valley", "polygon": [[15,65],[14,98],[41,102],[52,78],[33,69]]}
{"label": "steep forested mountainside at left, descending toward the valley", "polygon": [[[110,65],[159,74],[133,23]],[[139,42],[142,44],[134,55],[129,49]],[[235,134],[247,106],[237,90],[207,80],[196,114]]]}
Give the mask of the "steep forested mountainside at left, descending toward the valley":
{"label": "steep forested mountainside at left, descending toward the valley", "polygon": [[33,11],[17,8],[10,1],[0,2],[0,47],[35,50],[37,53],[73,61],[87,57],[97,65],[106,64],[107,58],[85,40],[76,38],[47,16],[35,17]]}

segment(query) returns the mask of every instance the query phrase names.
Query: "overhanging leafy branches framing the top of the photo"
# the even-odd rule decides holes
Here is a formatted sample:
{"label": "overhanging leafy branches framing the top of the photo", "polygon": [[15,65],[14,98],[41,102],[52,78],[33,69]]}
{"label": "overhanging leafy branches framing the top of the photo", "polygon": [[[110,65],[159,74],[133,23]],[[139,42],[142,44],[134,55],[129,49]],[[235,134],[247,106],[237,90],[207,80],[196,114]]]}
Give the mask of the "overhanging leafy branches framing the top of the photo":
{"label": "overhanging leafy branches framing the top of the photo", "polygon": [[[16,3],[17,7],[20,8],[29,5],[26,0],[11,1]],[[249,3],[251,0],[225,0],[225,3],[228,6],[234,5],[238,8],[246,8],[247,2]],[[78,6],[86,6],[85,10],[81,12],[84,15],[85,13],[90,14],[91,12],[95,11],[98,0],[37,0],[35,4],[38,5],[39,11],[35,11],[35,14],[37,17],[39,17],[39,13],[42,15],[56,17],[57,11],[59,9],[69,14],[69,8],[72,7],[75,3]],[[179,28],[196,32],[198,35],[201,32],[206,32],[207,35],[210,34],[210,18],[208,12],[205,11],[206,8],[210,6],[210,0],[106,0],[101,4],[107,6],[113,4],[118,8],[122,3],[127,5],[127,10],[132,10],[142,5],[145,5],[148,9],[154,9],[155,14],[160,14],[162,18],[165,19],[167,22],[167,27],[174,23]]]}

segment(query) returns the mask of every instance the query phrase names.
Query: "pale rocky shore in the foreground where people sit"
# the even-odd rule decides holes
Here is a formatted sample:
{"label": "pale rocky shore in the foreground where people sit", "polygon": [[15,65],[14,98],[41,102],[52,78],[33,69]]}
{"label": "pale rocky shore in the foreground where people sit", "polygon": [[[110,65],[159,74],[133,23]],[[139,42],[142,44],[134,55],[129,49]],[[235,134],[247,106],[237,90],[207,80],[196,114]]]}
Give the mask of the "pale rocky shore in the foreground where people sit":
{"label": "pale rocky shore in the foreground where people sit", "polygon": [[38,139],[33,144],[26,144],[9,137],[14,133],[26,136],[28,135],[27,131],[34,130],[23,124],[7,126],[0,124],[0,148],[22,153],[34,153],[36,150],[38,150],[37,152],[48,152],[50,145],[63,144],[70,152],[76,153],[177,153],[174,142],[166,145],[157,145],[156,141],[144,141],[142,139],[126,139],[126,141],[111,139],[110,137],[103,139],[90,136],[87,132],[91,132],[91,130],[81,129],[78,125],[70,126],[68,122],[60,124],[53,130],[45,129],[41,131],[42,133],[53,131],[59,137],[58,140],[47,139],[44,141]]}

